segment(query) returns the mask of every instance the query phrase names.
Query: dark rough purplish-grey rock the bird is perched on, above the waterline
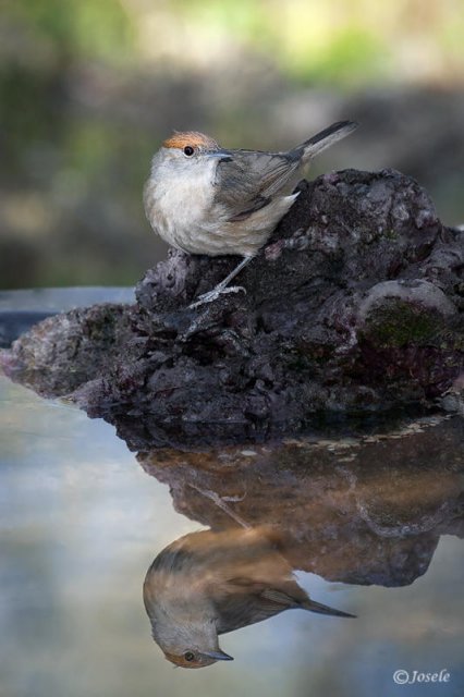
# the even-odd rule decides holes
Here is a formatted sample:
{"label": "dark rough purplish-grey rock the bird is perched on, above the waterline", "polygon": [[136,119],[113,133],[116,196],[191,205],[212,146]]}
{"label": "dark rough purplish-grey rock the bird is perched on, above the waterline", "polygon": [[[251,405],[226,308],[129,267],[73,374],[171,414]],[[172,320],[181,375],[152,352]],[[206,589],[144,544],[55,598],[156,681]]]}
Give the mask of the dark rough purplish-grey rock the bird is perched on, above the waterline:
{"label": "dark rough purplish-grey rock the bird is perched on, above the waterline", "polygon": [[[461,408],[464,232],[392,170],[303,181],[246,289],[190,309],[237,259],[170,250],[135,305],[48,318],[4,371],[155,442],[295,432],[320,417]],[[113,418],[114,417],[114,418]]]}

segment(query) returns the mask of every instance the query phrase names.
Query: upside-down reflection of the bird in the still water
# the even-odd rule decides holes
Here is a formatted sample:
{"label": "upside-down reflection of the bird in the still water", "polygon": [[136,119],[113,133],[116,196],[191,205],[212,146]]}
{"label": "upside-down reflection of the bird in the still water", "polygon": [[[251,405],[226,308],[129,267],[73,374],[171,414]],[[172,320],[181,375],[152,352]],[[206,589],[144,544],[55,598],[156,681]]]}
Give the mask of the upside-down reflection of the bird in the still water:
{"label": "upside-down reflection of the bird in the still water", "polygon": [[233,658],[219,635],[301,608],[355,615],[312,600],[280,552],[270,526],[190,533],[164,548],[145,577],[144,602],[155,641],[176,667]]}

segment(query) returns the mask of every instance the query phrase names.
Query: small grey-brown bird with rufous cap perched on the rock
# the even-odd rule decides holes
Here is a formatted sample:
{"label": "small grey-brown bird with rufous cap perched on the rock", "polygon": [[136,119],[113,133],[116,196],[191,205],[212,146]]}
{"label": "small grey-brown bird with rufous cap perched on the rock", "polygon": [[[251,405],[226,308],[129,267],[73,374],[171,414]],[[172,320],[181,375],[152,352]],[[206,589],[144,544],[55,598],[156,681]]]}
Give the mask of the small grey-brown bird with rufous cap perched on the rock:
{"label": "small grey-brown bird with rufous cap perched on the rock", "polygon": [[285,152],[224,149],[196,131],[174,132],[162,143],[144,187],[145,213],[154,231],[187,254],[242,257],[191,308],[223,293],[246,292],[229,284],[293,206],[302,170],[357,125],[338,121]]}

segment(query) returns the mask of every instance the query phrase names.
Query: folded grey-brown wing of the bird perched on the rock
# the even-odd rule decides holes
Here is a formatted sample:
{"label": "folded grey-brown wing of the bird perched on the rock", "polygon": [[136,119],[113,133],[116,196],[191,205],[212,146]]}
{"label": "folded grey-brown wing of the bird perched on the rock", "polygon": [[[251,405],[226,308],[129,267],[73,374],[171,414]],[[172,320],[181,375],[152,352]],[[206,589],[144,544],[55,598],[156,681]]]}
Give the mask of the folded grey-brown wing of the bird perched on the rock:
{"label": "folded grey-brown wing of the bird perched on the rock", "polygon": [[288,155],[235,150],[218,164],[213,204],[227,220],[245,220],[289,183],[300,161]]}

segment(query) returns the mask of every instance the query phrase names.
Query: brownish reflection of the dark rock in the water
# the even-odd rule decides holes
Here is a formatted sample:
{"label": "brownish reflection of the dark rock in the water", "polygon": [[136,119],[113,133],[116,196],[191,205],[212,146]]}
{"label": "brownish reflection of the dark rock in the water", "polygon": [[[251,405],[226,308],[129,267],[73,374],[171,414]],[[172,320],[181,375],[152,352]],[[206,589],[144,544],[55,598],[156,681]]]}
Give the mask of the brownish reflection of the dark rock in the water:
{"label": "brownish reflection of the dark rock in the water", "polygon": [[425,573],[440,535],[464,534],[463,442],[453,417],[361,439],[137,457],[192,519],[278,526],[292,568],[403,586]]}

